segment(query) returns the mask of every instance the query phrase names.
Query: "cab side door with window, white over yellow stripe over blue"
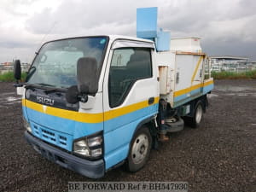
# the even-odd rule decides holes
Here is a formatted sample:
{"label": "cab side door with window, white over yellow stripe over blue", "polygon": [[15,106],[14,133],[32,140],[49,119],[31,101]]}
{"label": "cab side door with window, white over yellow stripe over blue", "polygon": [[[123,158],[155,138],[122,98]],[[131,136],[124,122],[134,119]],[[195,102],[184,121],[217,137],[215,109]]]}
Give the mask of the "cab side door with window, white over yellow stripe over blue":
{"label": "cab side door with window, white over yellow stripe over blue", "polygon": [[152,47],[120,47],[111,52],[103,88],[106,169],[125,160],[134,131],[157,113],[159,100]]}

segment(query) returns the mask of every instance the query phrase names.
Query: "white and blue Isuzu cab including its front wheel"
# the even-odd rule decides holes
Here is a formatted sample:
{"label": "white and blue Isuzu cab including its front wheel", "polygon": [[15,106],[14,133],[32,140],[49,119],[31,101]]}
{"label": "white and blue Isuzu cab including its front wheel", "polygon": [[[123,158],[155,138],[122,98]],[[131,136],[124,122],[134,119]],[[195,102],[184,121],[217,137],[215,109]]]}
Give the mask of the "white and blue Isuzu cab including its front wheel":
{"label": "white and blue Isuzu cab including its front wheel", "polygon": [[152,145],[145,127],[159,108],[154,54],[154,42],[121,36],[44,44],[19,88],[27,142],[87,177],[102,177],[131,153],[129,169],[140,169]]}

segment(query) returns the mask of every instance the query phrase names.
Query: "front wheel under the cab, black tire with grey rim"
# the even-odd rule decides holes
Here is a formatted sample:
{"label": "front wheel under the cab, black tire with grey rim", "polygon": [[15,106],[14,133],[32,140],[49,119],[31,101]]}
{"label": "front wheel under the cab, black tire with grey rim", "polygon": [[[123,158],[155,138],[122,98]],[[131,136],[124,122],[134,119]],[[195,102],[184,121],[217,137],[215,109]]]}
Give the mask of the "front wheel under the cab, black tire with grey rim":
{"label": "front wheel under the cab, black tire with grey rim", "polygon": [[131,140],[130,151],[126,161],[126,169],[129,172],[137,172],[148,161],[152,147],[152,137],[148,128],[143,126]]}

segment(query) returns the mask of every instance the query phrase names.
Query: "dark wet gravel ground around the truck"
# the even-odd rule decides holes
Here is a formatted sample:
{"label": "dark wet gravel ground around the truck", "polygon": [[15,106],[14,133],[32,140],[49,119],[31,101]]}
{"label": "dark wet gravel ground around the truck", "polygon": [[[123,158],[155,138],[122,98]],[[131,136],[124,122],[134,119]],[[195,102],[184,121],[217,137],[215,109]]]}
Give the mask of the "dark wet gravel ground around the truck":
{"label": "dark wet gravel ground around the truck", "polygon": [[[20,98],[0,83],[0,191],[67,191],[93,181],[44,160],[24,140]],[[136,173],[114,169],[98,181],[186,181],[189,191],[256,191],[256,80],[219,80],[199,129],[185,127],[152,150]]]}

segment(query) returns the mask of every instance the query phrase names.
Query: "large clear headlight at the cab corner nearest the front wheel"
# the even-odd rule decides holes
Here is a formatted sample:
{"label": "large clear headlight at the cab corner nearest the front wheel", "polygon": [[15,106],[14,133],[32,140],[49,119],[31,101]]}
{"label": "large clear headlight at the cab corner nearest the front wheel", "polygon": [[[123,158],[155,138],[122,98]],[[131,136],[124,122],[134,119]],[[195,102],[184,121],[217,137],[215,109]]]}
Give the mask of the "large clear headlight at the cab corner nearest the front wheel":
{"label": "large clear headlight at the cab corner nearest the front wheel", "polygon": [[94,135],[83,137],[73,143],[73,152],[86,157],[98,158],[102,156],[102,131]]}

